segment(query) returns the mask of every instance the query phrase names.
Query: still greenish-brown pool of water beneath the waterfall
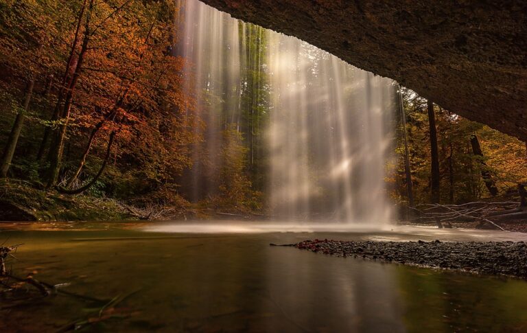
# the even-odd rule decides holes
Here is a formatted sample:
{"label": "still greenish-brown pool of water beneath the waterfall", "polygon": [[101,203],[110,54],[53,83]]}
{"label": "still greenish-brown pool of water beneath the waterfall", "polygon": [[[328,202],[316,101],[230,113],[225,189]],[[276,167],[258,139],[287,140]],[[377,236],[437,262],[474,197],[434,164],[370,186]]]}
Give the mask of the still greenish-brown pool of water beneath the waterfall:
{"label": "still greenish-brown pool of water beneath the waterfall", "polygon": [[[24,243],[12,271],[64,290],[129,295],[106,332],[526,332],[527,282],[382,264],[270,243],[524,240],[524,233],[250,222],[0,224]],[[131,294],[131,295],[130,295]],[[0,311],[0,332],[56,332],[94,317],[77,297]],[[95,315],[97,317],[97,315]],[[117,318],[119,317],[119,318]]]}

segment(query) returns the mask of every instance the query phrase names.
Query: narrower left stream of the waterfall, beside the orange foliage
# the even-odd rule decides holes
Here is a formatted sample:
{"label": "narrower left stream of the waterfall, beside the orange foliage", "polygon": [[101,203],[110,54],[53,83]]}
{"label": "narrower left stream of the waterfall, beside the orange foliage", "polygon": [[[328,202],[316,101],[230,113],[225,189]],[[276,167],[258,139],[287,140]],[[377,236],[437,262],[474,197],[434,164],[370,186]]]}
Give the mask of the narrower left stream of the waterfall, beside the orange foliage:
{"label": "narrower left stream of the waterfall, beside the orange foliage", "polygon": [[196,201],[215,192],[210,179],[222,164],[221,130],[240,120],[239,23],[197,0],[180,0],[178,8],[176,54],[187,60],[183,89],[196,99],[193,126],[203,140],[194,146],[194,165],[185,175]]}

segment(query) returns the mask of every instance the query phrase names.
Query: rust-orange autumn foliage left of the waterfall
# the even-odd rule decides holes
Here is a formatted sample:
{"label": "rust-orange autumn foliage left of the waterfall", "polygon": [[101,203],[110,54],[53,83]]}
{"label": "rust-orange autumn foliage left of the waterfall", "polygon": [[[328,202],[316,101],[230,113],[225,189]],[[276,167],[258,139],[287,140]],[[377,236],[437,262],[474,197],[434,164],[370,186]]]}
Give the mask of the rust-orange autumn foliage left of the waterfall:
{"label": "rust-orange autumn foliage left of the waterfall", "polygon": [[17,115],[29,122],[5,176],[65,192],[91,183],[86,190],[119,197],[173,182],[197,139],[194,102],[180,89],[185,60],[172,54],[176,9],[172,1],[0,1],[3,138]]}

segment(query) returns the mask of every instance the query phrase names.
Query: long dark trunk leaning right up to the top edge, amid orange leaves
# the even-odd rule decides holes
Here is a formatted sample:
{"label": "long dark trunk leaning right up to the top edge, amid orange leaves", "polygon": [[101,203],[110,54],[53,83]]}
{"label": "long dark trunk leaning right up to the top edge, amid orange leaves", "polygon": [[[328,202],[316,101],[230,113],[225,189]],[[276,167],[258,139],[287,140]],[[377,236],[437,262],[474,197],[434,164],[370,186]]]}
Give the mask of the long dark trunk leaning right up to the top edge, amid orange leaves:
{"label": "long dark trunk leaning right up to the top edge, amid orange leaves", "polygon": [[66,137],[66,130],[69,122],[69,115],[71,113],[71,103],[73,102],[73,95],[75,93],[75,87],[77,85],[80,71],[82,71],[82,63],[84,62],[84,56],[86,56],[86,51],[88,49],[88,44],[90,42],[90,32],[89,32],[89,22],[91,9],[93,8],[93,0],[90,1],[89,12],[86,16],[86,27],[84,29],[84,38],[82,41],[82,47],[78,55],[77,65],[75,66],[75,71],[71,78],[71,84],[67,89],[67,95],[65,99],[64,108],[60,114],[60,119],[63,120],[58,128],[58,133],[54,136],[51,146],[49,148],[49,170],[47,172],[47,187],[53,187],[58,181],[58,174],[60,172],[60,163],[62,161],[62,151],[64,150],[64,141]]}

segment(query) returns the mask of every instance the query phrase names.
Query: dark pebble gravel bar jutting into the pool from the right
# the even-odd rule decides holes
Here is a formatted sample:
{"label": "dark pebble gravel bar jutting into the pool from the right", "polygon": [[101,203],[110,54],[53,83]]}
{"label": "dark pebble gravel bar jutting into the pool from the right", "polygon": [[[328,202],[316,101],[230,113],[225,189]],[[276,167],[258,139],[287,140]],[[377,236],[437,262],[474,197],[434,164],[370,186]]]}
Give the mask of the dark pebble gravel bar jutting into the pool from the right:
{"label": "dark pebble gravel bar jutting into the pool from the right", "polygon": [[338,257],[354,257],[413,266],[447,268],[527,279],[524,242],[341,242],[305,240],[298,249]]}

